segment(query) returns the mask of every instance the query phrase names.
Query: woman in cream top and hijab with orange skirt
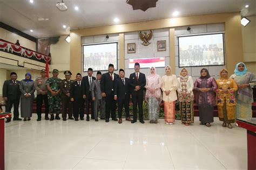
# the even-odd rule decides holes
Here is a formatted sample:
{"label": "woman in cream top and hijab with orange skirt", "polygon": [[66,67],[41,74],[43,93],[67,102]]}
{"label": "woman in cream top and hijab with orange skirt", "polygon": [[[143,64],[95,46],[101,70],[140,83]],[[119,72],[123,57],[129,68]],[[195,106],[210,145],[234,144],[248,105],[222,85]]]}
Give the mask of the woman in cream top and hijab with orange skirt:
{"label": "woman in cream top and hijab with orange skirt", "polygon": [[175,101],[177,100],[177,77],[172,74],[171,66],[165,67],[165,75],[162,77],[165,124],[172,125],[175,122]]}

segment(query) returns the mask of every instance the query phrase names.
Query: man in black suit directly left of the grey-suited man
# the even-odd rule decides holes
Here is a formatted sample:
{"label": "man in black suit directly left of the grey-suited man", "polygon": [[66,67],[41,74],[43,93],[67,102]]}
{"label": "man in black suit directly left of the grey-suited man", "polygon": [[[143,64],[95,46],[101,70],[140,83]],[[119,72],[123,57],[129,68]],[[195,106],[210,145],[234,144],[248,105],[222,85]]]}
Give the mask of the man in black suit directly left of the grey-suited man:
{"label": "man in black suit directly left of the grey-suited man", "polygon": [[91,84],[93,80],[96,80],[95,77],[92,76],[92,68],[88,68],[86,76],[83,77],[82,80],[82,88],[83,88],[83,98],[85,99],[85,107],[86,107],[86,121],[90,121],[89,117],[89,107],[91,105],[91,119],[94,119],[94,111],[93,111],[93,101],[92,101],[92,93],[91,93]]}

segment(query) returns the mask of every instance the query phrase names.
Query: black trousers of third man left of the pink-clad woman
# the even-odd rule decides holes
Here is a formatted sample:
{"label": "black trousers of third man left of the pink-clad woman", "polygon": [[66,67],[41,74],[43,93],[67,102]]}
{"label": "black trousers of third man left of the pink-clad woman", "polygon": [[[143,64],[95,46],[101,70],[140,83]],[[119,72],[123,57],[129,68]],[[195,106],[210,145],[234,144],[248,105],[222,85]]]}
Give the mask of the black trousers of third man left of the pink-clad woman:
{"label": "black trousers of third man left of the pink-clad woman", "polygon": [[111,93],[110,95],[107,95],[105,97],[105,101],[106,101],[105,118],[106,119],[110,118],[110,112],[111,112],[111,118],[116,118],[116,104],[117,104],[117,101],[114,100],[114,94]]}

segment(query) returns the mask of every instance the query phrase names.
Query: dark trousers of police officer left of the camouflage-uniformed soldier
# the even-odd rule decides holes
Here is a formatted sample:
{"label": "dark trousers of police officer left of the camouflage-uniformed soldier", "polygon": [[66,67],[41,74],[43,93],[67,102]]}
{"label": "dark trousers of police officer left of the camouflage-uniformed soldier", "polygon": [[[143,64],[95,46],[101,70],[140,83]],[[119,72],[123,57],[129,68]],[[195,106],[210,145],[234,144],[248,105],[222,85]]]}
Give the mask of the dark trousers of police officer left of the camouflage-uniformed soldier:
{"label": "dark trousers of police officer left of the camouflage-uniformed soldier", "polygon": [[47,95],[37,95],[36,96],[36,113],[38,117],[41,117],[42,114],[42,105],[44,103],[45,108],[45,117],[49,114],[49,103],[48,103],[48,96]]}

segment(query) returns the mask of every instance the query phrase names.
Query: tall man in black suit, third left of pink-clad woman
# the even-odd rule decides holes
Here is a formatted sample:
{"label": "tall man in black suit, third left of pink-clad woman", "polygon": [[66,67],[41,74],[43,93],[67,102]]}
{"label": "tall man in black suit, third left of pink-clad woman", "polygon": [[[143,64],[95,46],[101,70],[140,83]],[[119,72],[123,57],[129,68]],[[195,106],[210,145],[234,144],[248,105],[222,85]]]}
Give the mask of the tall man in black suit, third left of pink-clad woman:
{"label": "tall man in black suit, third left of pink-clad woman", "polygon": [[102,90],[102,97],[105,97],[105,122],[109,122],[110,112],[113,121],[118,121],[116,118],[116,104],[114,100],[114,81],[118,78],[118,74],[114,73],[114,65],[109,64],[109,72],[102,75],[100,82],[100,89]]}

